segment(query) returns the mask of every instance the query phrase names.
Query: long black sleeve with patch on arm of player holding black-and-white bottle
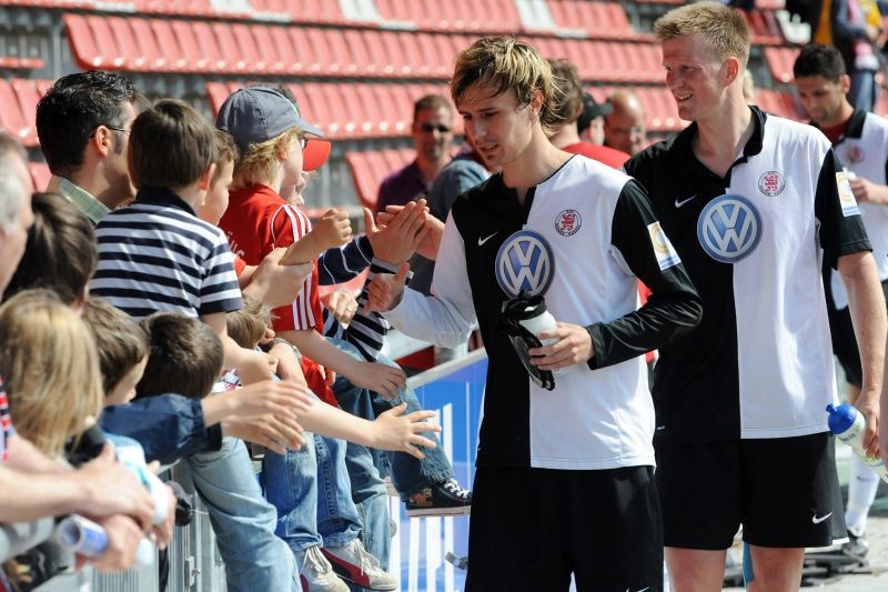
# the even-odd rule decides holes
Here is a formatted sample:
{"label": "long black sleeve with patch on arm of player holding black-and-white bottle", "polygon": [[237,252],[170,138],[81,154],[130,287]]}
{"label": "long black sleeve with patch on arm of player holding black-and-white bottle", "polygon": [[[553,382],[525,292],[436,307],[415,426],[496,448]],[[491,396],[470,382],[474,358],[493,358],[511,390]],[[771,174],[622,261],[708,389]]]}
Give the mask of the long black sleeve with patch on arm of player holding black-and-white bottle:
{"label": "long black sleeve with patch on arm of player holding black-and-white bottle", "polygon": [[[653,293],[639,310],[586,328],[595,348],[591,369],[666,345],[699,323],[703,301],[665,237],[644,189],[636,181],[626,183],[614,210],[610,242]],[[663,244],[657,252],[654,240]]]}

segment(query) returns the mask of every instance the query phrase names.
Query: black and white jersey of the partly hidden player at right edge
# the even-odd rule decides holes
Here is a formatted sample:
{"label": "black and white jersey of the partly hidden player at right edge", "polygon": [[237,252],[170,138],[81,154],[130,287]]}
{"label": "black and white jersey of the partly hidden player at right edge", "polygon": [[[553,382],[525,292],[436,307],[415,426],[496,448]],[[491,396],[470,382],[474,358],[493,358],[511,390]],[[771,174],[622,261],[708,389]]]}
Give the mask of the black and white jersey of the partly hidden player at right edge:
{"label": "black and white jersey of the partly hidden player at right edge", "polygon": [[[841,163],[857,177],[878,185],[888,184],[888,120],[855,109],[845,134],[833,144]],[[859,203],[864,225],[872,243],[879,280],[888,280],[888,207]],[[837,271],[833,271],[833,301],[837,309],[848,305],[848,294]]]}

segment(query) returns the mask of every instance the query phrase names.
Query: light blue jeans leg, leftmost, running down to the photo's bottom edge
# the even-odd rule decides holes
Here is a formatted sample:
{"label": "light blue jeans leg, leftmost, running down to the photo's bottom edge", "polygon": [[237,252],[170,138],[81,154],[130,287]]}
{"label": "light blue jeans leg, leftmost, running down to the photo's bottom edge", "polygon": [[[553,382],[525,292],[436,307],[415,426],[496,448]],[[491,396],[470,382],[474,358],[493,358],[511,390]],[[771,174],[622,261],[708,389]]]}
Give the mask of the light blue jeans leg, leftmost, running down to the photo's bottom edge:
{"label": "light blue jeans leg, leftmost, running down to the photo's bottom edge", "polygon": [[278,513],[262,498],[243,442],[225,438],[219,451],[192,454],[185,461],[210,511],[228,590],[300,591],[293,554],[274,535]]}

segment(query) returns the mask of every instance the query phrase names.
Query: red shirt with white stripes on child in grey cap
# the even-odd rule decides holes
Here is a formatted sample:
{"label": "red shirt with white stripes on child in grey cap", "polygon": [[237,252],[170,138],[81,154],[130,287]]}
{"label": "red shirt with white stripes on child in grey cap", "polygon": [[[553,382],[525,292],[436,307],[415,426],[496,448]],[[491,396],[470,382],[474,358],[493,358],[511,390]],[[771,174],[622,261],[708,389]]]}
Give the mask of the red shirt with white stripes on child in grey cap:
{"label": "red shirt with white stripes on child in grey cap", "polygon": [[[229,191],[229,209],[219,221],[219,227],[225,231],[235,255],[235,271],[240,273],[243,267],[236,268],[236,259],[242,259],[242,265],[258,265],[276,247],[289,247],[307,234],[312,223],[270,187],[253,185]],[[324,320],[317,297],[316,260],[312,274],[305,279],[302,290],[293,297],[292,305],[274,309],[274,330],[313,329],[323,334]],[[324,381],[317,364],[304,355],[302,372],[314,394],[332,405],[337,404],[336,397]]]}

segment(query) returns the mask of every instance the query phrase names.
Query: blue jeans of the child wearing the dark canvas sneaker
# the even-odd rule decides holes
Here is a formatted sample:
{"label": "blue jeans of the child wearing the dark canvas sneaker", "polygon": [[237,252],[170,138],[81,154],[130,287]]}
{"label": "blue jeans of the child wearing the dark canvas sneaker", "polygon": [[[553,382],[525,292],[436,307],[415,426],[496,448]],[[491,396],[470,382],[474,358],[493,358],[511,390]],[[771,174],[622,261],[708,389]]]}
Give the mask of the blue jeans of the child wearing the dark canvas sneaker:
{"label": "blue jeans of the child wearing the dark canvas sneaker", "polygon": [[[353,358],[364,361],[357,349],[347,341],[331,338],[327,338],[327,341],[351,354]],[[381,354],[377,361],[381,364],[397,368],[397,364],[385,355]],[[371,393],[366,389],[359,389],[342,378],[336,378],[333,391],[336,393],[336,400],[342,409],[353,415],[369,420],[373,420],[380,413],[392,409],[393,403],[397,404],[402,401],[407,403],[405,413],[413,413],[422,409],[420,408],[420,402],[416,400],[416,393],[413,392],[413,389],[410,387],[407,387],[405,391],[398,391],[401,401],[397,402],[386,401],[379,394]],[[381,466],[382,459],[384,458],[389,462],[391,466],[390,473],[392,475],[392,484],[398,493],[401,493],[402,500],[406,500],[411,493],[425,486],[441,483],[442,481],[453,478],[453,465],[441,449],[437,437],[434,432],[425,432],[423,435],[435,442],[435,444],[438,444],[431,450],[423,449],[423,452],[425,452],[425,459],[423,460],[407,454],[406,452],[374,451],[374,459],[381,471],[384,471]]]}

